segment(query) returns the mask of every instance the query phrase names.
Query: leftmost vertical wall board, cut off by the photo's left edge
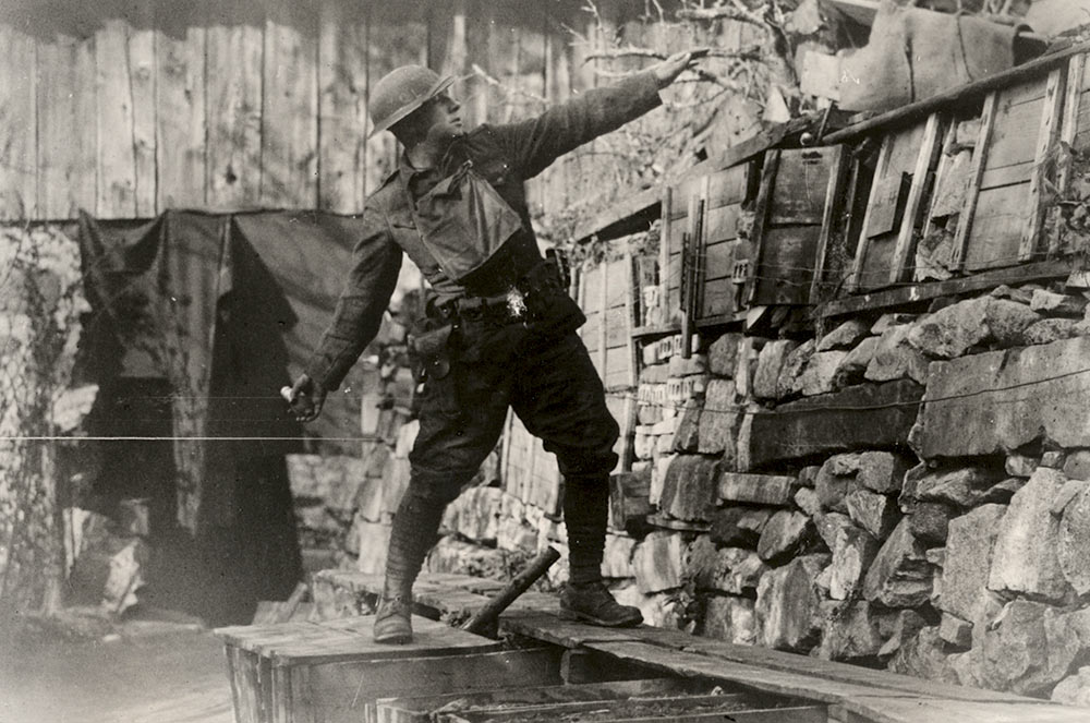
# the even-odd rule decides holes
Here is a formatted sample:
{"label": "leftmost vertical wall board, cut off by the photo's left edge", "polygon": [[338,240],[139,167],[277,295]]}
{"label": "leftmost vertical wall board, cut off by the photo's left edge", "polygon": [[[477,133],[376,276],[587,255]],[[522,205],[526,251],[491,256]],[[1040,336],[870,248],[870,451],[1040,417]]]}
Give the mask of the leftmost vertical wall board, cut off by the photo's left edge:
{"label": "leftmost vertical wall board, cut off by the photo's left edge", "polygon": [[0,220],[37,216],[34,38],[0,23]]}

